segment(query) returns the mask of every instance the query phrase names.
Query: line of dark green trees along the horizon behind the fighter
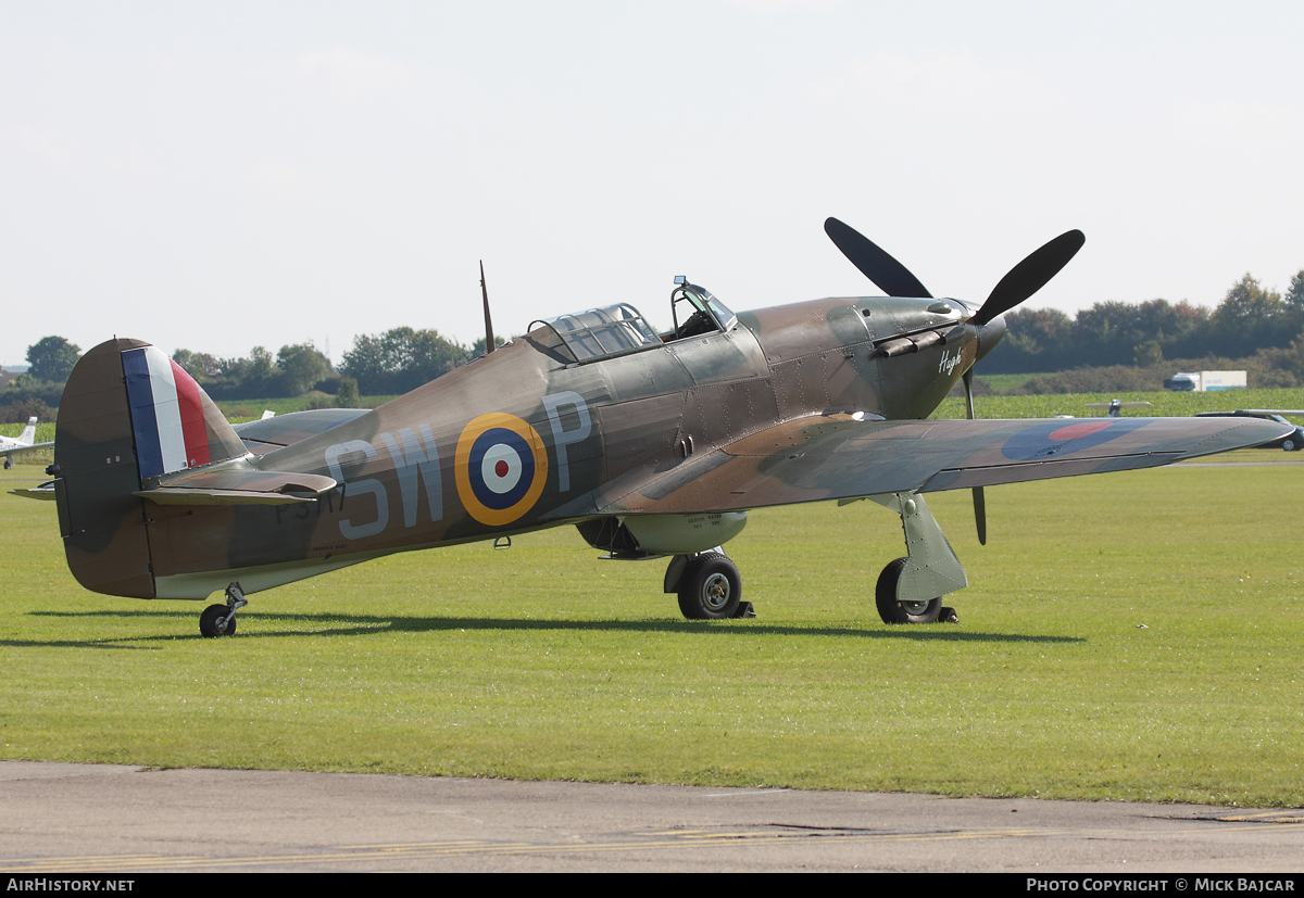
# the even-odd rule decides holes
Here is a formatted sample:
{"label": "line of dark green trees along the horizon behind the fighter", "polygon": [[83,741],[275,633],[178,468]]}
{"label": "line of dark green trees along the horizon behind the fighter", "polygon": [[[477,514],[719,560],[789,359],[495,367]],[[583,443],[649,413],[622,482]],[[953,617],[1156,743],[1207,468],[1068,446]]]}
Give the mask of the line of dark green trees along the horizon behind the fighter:
{"label": "line of dark green trees along the horizon behind the fighter", "polygon": [[[1149,300],[1097,302],[1069,317],[1055,309],[1016,309],[1008,332],[983,360],[982,374],[1039,373],[1021,392],[1158,390],[1176,370],[1247,369],[1252,387],[1304,384],[1304,270],[1290,289],[1265,289],[1247,274],[1214,309]],[[502,338],[496,340],[498,345]],[[273,356],[219,358],[177,349],[172,358],[214,399],[265,399],[321,394],[313,405],[359,405],[361,396],[416,390],[484,355],[437,330],[395,327],[360,334],[333,368],[312,343],[283,345]],[[0,422],[37,414],[53,418],[64,382],[81,348],[61,336],[27,347],[30,370],[0,386]],[[982,390],[981,378],[977,384]]]}

